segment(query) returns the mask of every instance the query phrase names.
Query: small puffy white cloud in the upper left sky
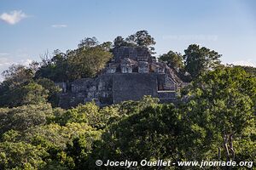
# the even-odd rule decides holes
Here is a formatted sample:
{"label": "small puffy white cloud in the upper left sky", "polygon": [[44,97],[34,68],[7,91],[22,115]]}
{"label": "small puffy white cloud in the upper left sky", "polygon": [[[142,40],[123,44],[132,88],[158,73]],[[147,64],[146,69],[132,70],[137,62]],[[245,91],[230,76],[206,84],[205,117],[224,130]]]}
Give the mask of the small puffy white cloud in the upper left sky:
{"label": "small puffy white cloud in the upper left sky", "polygon": [[21,10],[14,10],[8,13],[3,13],[0,15],[0,20],[7,22],[10,25],[15,25],[20,20],[25,19],[27,15],[23,13]]}

